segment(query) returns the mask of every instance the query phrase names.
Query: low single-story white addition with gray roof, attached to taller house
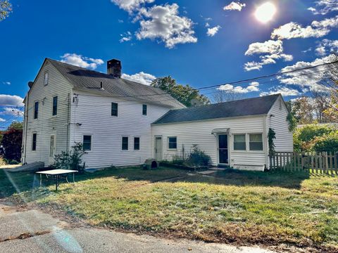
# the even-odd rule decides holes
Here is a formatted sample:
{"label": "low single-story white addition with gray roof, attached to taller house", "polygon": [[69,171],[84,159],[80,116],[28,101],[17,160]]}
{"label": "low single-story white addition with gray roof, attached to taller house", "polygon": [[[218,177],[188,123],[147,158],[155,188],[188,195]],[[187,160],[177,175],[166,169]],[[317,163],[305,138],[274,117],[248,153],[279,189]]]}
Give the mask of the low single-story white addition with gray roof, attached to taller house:
{"label": "low single-story white addition with gray roof, attached to taller house", "polygon": [[235,169],[269,168],[268,131],[276,134],[275,150],[292,152],[288,110],[280,94],[170,110],[151,124],[158,160],[170,160],[193,145],[214,165]]}

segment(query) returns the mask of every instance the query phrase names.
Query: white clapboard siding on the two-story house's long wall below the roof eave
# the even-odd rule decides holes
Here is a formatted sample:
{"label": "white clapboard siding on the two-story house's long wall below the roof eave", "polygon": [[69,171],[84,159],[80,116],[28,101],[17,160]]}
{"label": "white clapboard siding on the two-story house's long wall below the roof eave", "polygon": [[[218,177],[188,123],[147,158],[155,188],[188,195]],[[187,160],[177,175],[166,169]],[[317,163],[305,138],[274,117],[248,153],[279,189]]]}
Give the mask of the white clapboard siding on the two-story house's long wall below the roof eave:
{"label": "white clapboard siding on the two-story house's long wall below the roof eave", "polygon": [[[151,123],[170,108],[147,104],[142,115],[142,103],[113,97],[77,93],[72,103],[70,143],[82,142],[84,135],[92,135],[92,150],[84,155],[86,167],[101,168],[142,164],[151,157]],[[118,103],[118,117],[111,116],[111,103]],[[81,124],[81,125],[77,125]],[[129,137],[129,150],[122,150],[122,137]],[[134,150],[134,137],[140,138],[140,150]]]}

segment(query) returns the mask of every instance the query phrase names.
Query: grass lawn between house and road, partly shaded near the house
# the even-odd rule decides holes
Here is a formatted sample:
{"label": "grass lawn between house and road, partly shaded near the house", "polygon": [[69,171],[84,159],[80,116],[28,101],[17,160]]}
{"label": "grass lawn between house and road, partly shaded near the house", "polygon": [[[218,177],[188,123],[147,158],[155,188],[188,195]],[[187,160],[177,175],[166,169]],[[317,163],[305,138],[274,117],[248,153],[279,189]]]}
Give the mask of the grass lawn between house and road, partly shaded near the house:
{"label": "grass lawn between house and road, partly shaded near the house", "polygon": [[[287,172],[220,171],[218,178],[178,169],[111,169],[32,190],[32,174],[0,170],[0,196],[57,205],[89,223],[208,242],[338,249],[338,178]],[[23,193],[15,194],[13,187]]]}

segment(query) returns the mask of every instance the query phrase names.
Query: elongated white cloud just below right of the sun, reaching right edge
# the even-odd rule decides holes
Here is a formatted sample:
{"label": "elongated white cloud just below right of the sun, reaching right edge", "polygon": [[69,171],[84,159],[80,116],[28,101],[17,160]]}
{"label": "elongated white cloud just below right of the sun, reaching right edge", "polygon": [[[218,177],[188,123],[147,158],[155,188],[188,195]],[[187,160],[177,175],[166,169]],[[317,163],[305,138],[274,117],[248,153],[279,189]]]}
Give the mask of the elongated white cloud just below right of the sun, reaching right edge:
{"label": "elongated white cloud just below right of the sun, reaching right edge", "polygon": [[311,25],[302,27],[296,22],[289,22],[282,25],[271,34],[272,39],[293,39],[293,38],[310,38],[323,37],[331,32],[330,28],[338,27],[338,15],[334,18],[326,18],[321,21],[313,21]]}

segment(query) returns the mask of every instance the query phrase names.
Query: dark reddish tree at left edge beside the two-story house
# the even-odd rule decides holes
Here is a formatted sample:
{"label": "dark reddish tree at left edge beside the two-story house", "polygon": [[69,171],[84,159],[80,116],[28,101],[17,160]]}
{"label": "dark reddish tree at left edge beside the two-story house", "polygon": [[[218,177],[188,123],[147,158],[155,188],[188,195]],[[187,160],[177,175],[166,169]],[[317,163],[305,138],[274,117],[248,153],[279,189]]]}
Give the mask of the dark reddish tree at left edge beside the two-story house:
{"label": "dark reddish tree at left edge beside the two-story house", "polygon": [[13,122],[10,126],[8,126],[8,129],[2,138],[2,145],[4,145],[5,149],[4,157],[7,160],[15,160],[20,162],[22,142],[23,123]]}

